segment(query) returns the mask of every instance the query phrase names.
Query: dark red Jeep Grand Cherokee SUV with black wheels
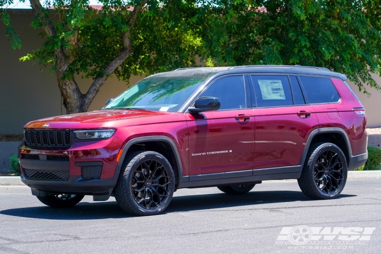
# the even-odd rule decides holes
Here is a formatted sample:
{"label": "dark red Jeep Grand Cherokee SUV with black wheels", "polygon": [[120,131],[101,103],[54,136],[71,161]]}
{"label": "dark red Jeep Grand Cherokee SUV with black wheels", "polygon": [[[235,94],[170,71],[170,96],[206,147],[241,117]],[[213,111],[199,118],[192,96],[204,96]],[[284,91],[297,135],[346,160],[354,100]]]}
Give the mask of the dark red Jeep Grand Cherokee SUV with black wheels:
{"label": "dark red Jeep Grand Cherokee SUV with black wheels", "polygon": [[333,199],[367,160],[367,118],[342,74],[303,66],[184,68],[149,76],[102,110],[24,126],[21,179],[52,207],[114,196],[162,212],[179,188],[245,194],[298,179]]}

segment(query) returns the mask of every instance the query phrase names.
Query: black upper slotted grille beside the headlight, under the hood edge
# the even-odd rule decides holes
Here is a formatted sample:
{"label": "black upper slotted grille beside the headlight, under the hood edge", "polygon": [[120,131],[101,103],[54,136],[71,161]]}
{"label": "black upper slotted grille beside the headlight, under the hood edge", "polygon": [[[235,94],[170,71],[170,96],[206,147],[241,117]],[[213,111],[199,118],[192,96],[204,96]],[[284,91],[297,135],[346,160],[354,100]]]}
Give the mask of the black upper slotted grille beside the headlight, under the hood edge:
{"label": "black upper slotted grille beside the headlight, under the hood edge", "polygon": [[72,132],[25,130],[24,140],[29,146],[69,147],[72,144]]}

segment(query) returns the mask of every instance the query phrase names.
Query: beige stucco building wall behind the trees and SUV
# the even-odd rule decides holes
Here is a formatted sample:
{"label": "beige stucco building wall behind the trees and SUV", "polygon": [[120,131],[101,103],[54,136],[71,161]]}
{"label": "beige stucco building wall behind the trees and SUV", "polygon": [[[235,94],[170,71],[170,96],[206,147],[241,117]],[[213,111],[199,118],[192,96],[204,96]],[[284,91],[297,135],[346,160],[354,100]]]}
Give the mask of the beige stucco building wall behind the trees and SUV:
{"label": "beige stucco building wall behind the trees and SUV", "polygon": [[[32,61],[21,62],[19,58],[37,49],[43,39],[40,31],[29,26],[33,13],[31,10],[10,10],[11,22],[20,35],[22,48],[13,50],[4,36],[5,25],[0,24],[0,134],[22,133],[22,126],[34,119],[65,114],[61,96],[54,74],[48,74],[48,68],[33,65]],[[3,32],[2,32],[3,31]],[[373,76],[381,85],[381,78]],[[134,84],[142,77],[132,77]],[[91,80],[77,77],[82,92],[91,84]],[[368,115],[368,127],[381,126],[381,92],[368,88],[371,97],[359,91],[356,85],[350,85],[363,103]],[[127,88],[125,82],[115,77],[109,78],[92,102],[89,111],[105,105],[109,98],[117,96]]]}

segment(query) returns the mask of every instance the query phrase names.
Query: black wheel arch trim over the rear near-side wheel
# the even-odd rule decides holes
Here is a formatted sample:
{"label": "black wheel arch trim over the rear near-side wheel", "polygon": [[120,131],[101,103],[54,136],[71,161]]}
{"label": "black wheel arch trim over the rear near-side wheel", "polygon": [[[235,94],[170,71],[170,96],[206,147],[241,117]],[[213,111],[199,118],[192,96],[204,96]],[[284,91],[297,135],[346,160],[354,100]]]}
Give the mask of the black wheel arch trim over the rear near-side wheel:
{"label": "black wheel arch trim over the rear near-side wheel", "polygon": [[304,147],[300,165],[304,165],[308,150],[315,142],[329,142],[337,145],[344,153],[349,168],[352,157],[351,143],[345,131],[336,127],[320,128],[311,132]]}

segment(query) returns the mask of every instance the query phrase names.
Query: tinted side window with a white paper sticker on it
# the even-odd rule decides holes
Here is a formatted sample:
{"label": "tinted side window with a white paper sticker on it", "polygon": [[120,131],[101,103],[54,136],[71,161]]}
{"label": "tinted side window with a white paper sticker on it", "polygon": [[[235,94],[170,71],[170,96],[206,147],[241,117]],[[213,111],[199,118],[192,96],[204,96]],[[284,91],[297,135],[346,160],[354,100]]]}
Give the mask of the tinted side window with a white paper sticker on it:
{"label": "tinted side window with a white paper sticker on it", "polygon": [[293,105],[287,76],[251,76],[256,93],[257,107],[280,107]]}

